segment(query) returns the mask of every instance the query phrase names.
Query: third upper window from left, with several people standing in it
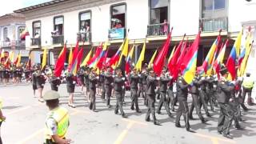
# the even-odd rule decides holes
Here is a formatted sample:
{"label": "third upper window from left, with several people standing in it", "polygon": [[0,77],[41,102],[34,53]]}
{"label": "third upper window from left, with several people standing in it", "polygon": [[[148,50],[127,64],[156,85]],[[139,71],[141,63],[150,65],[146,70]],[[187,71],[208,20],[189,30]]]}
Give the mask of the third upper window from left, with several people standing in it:
{"label": "third upper window from left, with several people standing in it", "polygon": [[79,30],[80,32],[90,32],[91,12],[82,12],[79,14]]}

